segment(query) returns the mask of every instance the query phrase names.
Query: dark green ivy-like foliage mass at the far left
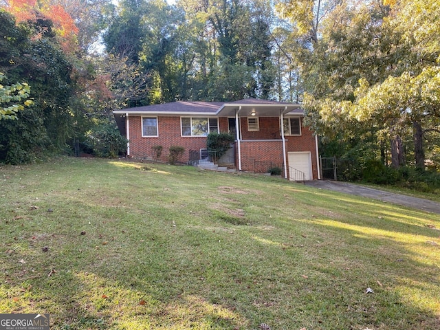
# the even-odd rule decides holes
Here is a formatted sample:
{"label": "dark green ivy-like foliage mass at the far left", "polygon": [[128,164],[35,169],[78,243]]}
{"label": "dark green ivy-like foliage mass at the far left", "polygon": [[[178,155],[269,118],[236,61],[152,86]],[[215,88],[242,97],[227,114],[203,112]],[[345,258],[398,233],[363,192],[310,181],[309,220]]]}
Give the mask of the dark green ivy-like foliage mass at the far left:
{"label": "dark green ivy-like foliage mass at the far left", "polygon": [[[43,31],[39,39],[32,38],[36,30]],[[17,113],[18,120],[0,122],[0,160],[30,162],[47,151],[64,150],[71,133],[72,65],[54,40],[51,22],[17,26],[0,10],[0,31],[0,69],[8,79],[30,85],[33,99],[31,107]]]}

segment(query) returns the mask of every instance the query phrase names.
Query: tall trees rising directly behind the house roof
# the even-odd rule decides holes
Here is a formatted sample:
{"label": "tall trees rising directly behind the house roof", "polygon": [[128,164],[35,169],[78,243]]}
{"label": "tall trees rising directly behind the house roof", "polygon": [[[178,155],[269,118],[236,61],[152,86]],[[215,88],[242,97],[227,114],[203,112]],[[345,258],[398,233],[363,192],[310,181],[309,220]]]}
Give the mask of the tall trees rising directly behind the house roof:
{"label": "tall trees rising directly behind the house roof", "polygon": [[107,52],[147,78],[128,104],[272,97],[275,72],[265,1],[120,1],[104,34]]}

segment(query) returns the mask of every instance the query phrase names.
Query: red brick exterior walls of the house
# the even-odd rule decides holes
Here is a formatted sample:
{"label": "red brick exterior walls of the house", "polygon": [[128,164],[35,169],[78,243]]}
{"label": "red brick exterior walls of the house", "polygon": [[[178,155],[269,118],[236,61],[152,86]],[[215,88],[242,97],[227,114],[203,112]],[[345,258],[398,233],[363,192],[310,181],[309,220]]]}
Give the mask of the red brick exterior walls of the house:
{"label": "red brick exterior walls of the house", "polygon": [[[241,119],[241,129],[243,140],[271,140],[263,142],[241,142],[241,169],[256,172],[266,172],[271,166],[281,166],[283,164],[283,144],[281,142],[279,118],[261,117],[259,118],[260,130],[248,131],[248,119]],[[153,146],[163,147],[160,160],[168,160],[168,148],[170,146],[183,146],[184,156],[181,162],[188,162],[189,151],[199,151],[206,148],[206,137],[183,137],[180,130],[179,117],[157,117],[158,137],[142,137],[141,117],[129,117],[130,122],[130,155],[132,157],[153,157]],[[219,118],[220,131],[228,131],[228,118]],[[316,166],[316,146],[315,137],[307,127],[302,128],[301,136],[286,136],[286,155],[289,151],[310,151],[311,166],[314,179],[318,178]],[[287,157],[287,156],[286,156]],[[238,168],[238,155],[236,155]],[[258,168],[256,168],[258,166]]]}

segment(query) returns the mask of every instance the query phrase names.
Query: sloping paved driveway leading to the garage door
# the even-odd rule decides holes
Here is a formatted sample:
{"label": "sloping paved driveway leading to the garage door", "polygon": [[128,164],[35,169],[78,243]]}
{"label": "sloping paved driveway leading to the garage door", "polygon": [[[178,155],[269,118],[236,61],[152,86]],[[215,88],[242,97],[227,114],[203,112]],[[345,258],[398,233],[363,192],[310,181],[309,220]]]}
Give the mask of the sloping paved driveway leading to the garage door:
{"label": "sloping paved driveway leading to the garage door", "polygon": [[306,181],[305,184],[307,186],[311,186],[318,189],[327,189],[338,192],[344,192],[349,195],[357,195],[372,199],[379,199],[380,201],[386,201],[388,203],[394,203],[401,206],[408,206],[408,208],[416,208],[426,212],[440,214],[440,203],[437,203],[436,201],[430,201],[428,199],[394,194],[393,192],[386,192],[383,190],[366,188],[366,187],[358,186],[356,184],[349,184],[347,182],[341,182],[341,181],[315,180],[315,181]]}

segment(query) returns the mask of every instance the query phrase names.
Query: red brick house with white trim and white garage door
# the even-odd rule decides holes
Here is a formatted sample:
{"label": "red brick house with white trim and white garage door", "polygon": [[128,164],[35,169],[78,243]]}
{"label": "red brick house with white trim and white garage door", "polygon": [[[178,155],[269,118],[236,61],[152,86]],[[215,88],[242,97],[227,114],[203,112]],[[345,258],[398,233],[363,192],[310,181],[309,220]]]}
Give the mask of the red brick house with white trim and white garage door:
{"label": "red brick house with white trim and white garage door", "polygon": [[183,146],[181,159],[206,157],[206,135],[230,132],[236,137],[232,165],[237,170],[266,173],[282,168],[292,180],[320,179],[318,139],[303,126],[299,104],[247,98],[235,102],[177,101],[113,111],[129,157],[153,157],[162,146]]}

